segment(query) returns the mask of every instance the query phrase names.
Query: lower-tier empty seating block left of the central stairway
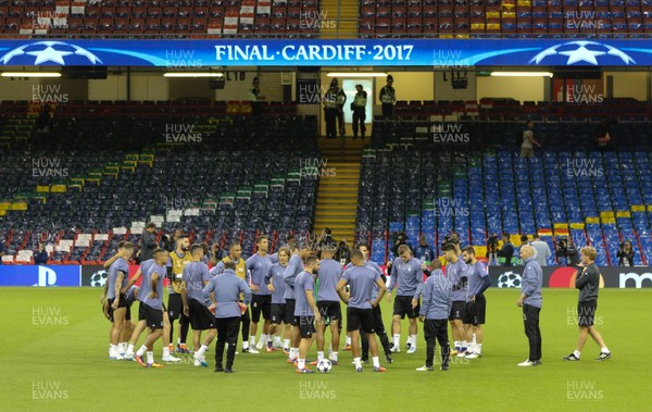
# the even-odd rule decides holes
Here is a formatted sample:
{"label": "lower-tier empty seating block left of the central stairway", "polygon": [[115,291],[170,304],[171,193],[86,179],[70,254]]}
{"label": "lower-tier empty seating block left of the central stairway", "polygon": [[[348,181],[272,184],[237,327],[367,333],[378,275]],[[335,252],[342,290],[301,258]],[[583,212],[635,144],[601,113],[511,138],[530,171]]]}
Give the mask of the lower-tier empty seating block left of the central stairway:
{"label": "lower-tier empty seating block left of the central stairway", "polygon": [[[53,262],[97,262],[117,241],[137,241],[135,222],[150,220],[195,241],[240,241],[244,254],[258,233],[276,239],[312,229],[317,180],[301,167],[318,157],[315,117],[251,122],[149,103],[140,116],[120,104],[123,110],[106,115],[115,104],[86,104],[95,110],[58,112],[53,133],[30,137],[38,149],[29,154],[21,146],[0,152],[3,164],[14,165],[0,171],[13,182],[0,189],[0,233],[10,254],[42,239],[54,246]],[[0,127],[13,133],[17,117],[1,115]]]}

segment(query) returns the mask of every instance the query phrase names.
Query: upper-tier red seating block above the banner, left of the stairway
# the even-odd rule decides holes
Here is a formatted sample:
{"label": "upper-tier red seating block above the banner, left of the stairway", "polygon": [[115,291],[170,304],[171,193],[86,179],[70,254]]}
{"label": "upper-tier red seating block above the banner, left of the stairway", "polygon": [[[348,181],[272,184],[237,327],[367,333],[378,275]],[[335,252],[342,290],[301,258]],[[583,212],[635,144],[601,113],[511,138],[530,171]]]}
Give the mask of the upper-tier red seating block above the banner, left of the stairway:
{"label": "upper-tier red seating block above the banner, left of the stairway", "polygon": [[318,0],[0,0],[5,36],[314,37]]}

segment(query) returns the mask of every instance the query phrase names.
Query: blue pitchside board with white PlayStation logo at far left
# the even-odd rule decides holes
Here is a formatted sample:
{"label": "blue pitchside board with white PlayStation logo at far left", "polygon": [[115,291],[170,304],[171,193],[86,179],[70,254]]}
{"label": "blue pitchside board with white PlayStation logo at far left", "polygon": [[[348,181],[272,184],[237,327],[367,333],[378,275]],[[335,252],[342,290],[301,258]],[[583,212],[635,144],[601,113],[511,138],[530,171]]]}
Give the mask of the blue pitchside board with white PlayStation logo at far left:
{"label": "blue pitchside board with white PlayStation logo at far left", "polygon": [[79,286],[82,266],[0,265],[0,286]]}

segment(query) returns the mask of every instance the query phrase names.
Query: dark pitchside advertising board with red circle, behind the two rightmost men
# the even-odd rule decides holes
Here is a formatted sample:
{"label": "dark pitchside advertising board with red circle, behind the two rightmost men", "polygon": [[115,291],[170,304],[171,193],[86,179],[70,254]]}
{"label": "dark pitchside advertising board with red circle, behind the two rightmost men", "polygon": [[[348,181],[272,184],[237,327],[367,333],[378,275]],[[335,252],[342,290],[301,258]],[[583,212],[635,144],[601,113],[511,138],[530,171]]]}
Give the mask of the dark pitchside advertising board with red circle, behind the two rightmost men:
{"label": "dark pitchside advertising board with red circle, behind the two rightmost men", "polygon": [[[546,266],[543,287],[575,288],[577,267]],[[521,288],[523,266],[489,266],[491,286],[500,288]],[[652,287],[652,269],[645,266],[603,266],[600,267],[601,288],[649,288]]]}

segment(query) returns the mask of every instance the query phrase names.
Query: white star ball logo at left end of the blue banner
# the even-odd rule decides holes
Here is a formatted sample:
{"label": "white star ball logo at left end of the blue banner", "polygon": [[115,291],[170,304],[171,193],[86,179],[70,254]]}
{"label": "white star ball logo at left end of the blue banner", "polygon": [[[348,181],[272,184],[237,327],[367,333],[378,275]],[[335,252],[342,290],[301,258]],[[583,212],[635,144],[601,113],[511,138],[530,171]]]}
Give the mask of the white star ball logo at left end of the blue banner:
{"label": "white star ball logo at left end of the blue banner", "polygon": [[13,63],[15,65],[59,64],[64,66],[66,60],[70,63],[72,59],[75,59],[76,64],[86,62],[93,65],[102,64],[102,61],[90,51],[63,41],[37,41],[17,47],[0,57],[0,63],[4,65]]}

